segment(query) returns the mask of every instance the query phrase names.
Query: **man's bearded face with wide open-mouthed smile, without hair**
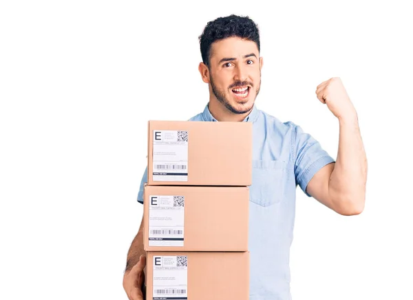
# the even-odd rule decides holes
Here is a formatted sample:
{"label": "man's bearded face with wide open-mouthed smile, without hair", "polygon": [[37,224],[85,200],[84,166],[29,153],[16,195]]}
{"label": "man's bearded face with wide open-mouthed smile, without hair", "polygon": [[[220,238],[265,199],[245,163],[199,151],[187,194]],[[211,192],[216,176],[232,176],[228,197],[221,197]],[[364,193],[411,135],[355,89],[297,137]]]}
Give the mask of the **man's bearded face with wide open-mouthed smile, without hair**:
{"label": "man's bearded face with wide open-mouthed smile, without hair", "polygon": [[249,112],[261,86],[262,58],[255,42],[239,37],[216,41],[209,62],[215,98],[235,114]]}

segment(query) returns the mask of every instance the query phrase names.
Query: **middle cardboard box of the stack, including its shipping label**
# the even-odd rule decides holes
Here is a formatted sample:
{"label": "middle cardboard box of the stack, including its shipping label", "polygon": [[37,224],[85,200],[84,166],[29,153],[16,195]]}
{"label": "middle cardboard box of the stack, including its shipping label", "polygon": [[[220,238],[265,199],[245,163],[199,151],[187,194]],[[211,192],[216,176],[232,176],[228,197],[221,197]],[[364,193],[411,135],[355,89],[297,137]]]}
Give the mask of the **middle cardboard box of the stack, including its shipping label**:
{"label": "middle cardboard box of the stack, including its shipping label", "polygon": [[145,251],[247,251],[249,188],[144,188]]}

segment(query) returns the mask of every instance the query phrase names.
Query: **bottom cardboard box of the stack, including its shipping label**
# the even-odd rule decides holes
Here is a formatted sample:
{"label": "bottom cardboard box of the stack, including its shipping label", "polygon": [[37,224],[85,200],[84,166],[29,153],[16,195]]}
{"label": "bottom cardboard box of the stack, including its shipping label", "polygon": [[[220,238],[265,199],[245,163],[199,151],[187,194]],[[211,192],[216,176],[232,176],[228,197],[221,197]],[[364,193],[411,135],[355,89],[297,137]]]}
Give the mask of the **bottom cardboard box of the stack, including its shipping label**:
{"label": "bottom cardboard box of the stack, including its shipping label", "polygon": [[146,299],[248,300],[249,252],[147,252]]}

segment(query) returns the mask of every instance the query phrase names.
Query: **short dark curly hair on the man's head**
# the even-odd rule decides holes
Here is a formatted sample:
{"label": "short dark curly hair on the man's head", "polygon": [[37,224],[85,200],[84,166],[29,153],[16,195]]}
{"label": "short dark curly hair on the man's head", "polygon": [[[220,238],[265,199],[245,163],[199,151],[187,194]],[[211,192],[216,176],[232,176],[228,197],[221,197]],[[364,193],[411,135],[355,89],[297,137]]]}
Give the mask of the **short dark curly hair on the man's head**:
{"label": "short dark curly hair on the man's head", "polygon": [[200,48],[202,61],[209,67],[209,55],[214,41],[227,37],[240,37],[257,44],[260,51],[260,31],[257,24],[249,17],[240,17],[231,14],[228,17],[220,17],[209,21],[200,35]]}

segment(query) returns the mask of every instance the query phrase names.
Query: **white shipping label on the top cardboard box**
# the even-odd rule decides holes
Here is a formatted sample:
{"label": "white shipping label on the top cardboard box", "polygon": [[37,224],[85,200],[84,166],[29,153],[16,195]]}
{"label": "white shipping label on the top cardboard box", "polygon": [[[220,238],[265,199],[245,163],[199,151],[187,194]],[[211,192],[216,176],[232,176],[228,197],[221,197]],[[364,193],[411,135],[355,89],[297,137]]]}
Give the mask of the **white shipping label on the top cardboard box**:
{"label": "white shipping label on the top cardboard box", "polygon": [[188,181],[188,132],[153,130],[153,181]]}

